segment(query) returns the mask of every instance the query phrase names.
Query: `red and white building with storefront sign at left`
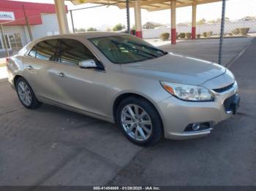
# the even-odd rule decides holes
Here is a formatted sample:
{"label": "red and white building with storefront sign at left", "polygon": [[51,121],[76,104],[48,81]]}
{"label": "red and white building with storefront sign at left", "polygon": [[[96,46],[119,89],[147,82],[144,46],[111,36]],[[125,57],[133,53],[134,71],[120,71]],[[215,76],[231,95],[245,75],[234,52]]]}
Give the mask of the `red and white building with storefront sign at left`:
{"label": "red and white building with storefront sign at left", "polygon": [[[27,23],[31,28],[31,36]],[[1,0],[0,24],[4,26],[4,38],[7,41],[8,50],[20,49],[31,41],[31,37],[37,39],[42,36],[59,34],[54,4]],[[4,51],[1,35],[0,51]]]}

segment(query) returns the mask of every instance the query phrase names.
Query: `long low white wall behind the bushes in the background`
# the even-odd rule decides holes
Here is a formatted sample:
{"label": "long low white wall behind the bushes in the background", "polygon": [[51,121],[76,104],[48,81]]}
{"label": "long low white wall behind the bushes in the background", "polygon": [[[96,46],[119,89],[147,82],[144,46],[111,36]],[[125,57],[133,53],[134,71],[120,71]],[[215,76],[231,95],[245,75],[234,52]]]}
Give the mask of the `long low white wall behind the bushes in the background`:
{"label": "long low white wall behind the bushes in the background", "polygon": [[[250,28],[249,33],[256,33],[256,20],[225,23],[225,34],[231,33],[235,28]],[[178,33],[191,33],[191,26],[177,26]],[[219,34],[220,24],[208,24],[197,26],[197,34],[203,34],[203,32],[213,31],[214,34]],[[158,29],[143,29],[143,39],[156,39],[159,38],[162,33],[170,33],[170,28],[158,28]]]}

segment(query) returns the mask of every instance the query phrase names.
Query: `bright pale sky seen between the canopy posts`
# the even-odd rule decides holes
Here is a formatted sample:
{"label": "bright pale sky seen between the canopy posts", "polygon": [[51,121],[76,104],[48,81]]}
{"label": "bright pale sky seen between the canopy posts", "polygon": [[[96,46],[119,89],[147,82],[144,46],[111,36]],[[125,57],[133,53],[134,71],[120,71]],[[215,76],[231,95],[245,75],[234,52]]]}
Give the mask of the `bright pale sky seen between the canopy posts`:
{"label": "bright pale sky seen between the canopy posts", "polygon": [[[38,3],[54,3],[53,0],[16,0],[28,1]],[[75,6],[70,1],[65,1],[68,9],[78,9],[81,7],[91,7],[97,4],[83,4]],[[238,20],[246,16],[256,17],[256,0],[229,0],[227,1],[226,17],[230,20]],[[221,17],[222,2],[215,2],[211,4],[197,5],[197,20],[205,18],[206,20],[216,20]],[[142,10],[142,23],[152,21],[155,23],[170,24],[170,10],[162,10],[157,12],[148,12]],[[69,28],[71,28],[70,15],[67,15],[69,21]],[[127,16],[125,9],[118,9],[118,7],[97,7],[92,9],[83,9],[73,12],[75,28],[112,28],[117,23],[126,25]],[[131,26],[134,25],[134,12],[130,9]],[[176,9],[176,22],[186,23],[192,20],[192,7],[181,7]]]}

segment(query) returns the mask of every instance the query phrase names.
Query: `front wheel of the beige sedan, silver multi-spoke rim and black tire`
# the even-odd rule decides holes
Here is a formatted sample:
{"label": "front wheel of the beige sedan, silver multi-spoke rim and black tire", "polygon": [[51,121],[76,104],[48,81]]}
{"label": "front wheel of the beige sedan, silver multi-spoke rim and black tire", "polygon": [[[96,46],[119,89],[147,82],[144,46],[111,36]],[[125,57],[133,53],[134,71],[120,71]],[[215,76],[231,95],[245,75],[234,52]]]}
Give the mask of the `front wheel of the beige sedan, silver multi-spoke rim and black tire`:
{"label": "front wheel of the beige sedan, silver multi-spoke rim and black tire", "polygon": [[139,97],[125,98],[116,112],[124,136],[140,146],[153,145],[162,138],[162,120],[154,106]]}

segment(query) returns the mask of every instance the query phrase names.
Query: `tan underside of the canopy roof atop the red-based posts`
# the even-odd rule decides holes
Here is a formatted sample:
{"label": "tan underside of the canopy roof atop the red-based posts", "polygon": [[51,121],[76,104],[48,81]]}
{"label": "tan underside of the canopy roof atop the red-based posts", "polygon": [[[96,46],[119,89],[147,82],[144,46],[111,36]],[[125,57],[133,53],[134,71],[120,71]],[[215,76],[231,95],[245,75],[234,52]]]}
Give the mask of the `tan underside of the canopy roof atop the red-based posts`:
{"label": "tan underside of the canopy roof atop the red-based posts", "polygon": [[[105,4],[105,5],[115,5],[120,9],[126,8],[126,0],[69,0],[73,4]],[[194,0],[195,4],[208,4],[222,0]],[[130,6],[134,7],[134,0],[130,0]],[[146,9],[148,11],[158,11],[164,9],[170,9],[170,0],[140,0],[141,9]],[[187,7],[192,6],[193,0],[176,0],[176,7]]]}

